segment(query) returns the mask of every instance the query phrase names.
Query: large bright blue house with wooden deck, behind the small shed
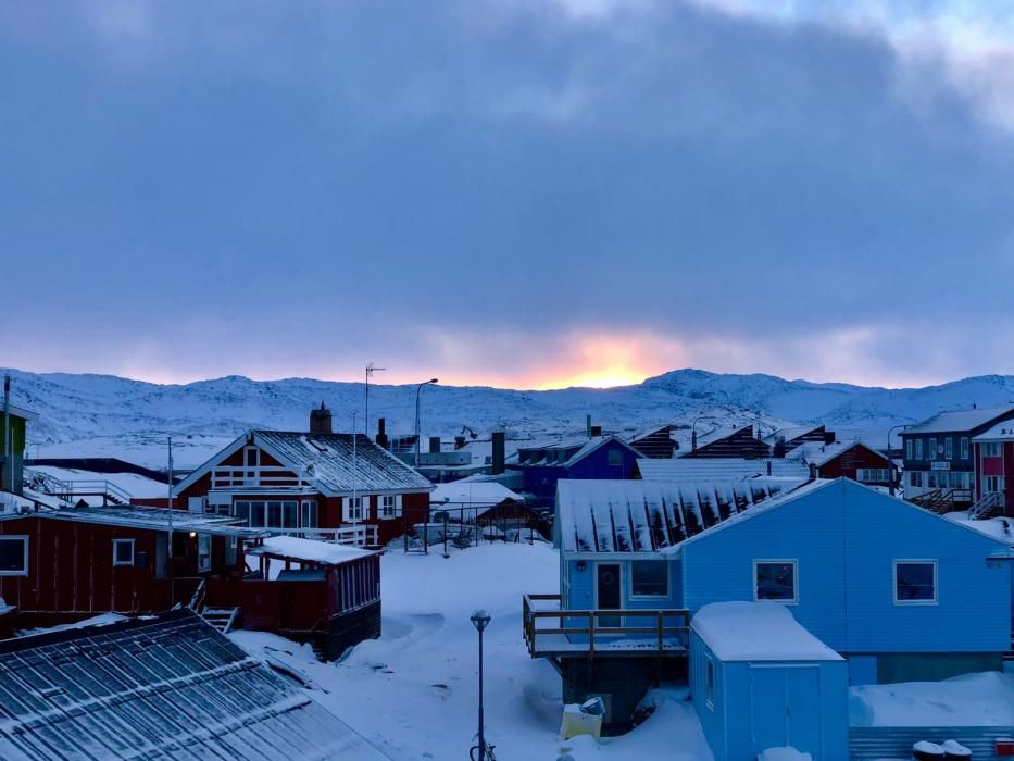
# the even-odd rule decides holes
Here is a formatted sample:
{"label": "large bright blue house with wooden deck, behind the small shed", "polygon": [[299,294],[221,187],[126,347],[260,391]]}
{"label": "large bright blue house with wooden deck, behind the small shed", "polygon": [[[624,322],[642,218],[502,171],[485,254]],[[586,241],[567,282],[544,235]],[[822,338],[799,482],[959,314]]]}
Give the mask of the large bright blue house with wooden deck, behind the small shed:
{"label": "large bright blue house with wooden deck, behind the small shed", "polygon": [[685,673],[687,622],[715,602],[786,606],[852,684],[999,670],[1011,647],[1007,542],[850,479],[562,481],[555,532],[560,595],[526,598],[529,651],[565,697],[613,696],[615,722]]}

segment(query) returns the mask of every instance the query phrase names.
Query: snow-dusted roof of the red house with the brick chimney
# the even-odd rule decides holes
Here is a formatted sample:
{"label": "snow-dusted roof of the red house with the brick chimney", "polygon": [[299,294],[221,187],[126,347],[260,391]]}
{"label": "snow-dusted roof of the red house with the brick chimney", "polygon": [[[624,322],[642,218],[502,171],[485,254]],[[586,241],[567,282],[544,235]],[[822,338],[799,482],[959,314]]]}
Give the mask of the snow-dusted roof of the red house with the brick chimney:
{"label": "snow-dusted roof of the red house with the brick chimney", "polygon": [[313,469],[311,481],[330,495],[429,491],[433,484],[363,434],[254,431],[264,446],[293,471]]}

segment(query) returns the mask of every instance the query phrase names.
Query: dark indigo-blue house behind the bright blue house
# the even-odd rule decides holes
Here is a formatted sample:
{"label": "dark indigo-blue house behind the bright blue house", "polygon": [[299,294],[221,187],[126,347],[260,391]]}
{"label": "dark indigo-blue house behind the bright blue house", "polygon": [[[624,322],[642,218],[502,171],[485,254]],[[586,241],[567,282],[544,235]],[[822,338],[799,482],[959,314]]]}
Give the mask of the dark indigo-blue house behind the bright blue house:
{"label": "dark indigo-blue house behind the bright blue house", "polygon": [[519,447],[508,466],[522,472],[523,491],[551,503],[559,481],[630,478],[642,457],[618,436],[594,436]]}

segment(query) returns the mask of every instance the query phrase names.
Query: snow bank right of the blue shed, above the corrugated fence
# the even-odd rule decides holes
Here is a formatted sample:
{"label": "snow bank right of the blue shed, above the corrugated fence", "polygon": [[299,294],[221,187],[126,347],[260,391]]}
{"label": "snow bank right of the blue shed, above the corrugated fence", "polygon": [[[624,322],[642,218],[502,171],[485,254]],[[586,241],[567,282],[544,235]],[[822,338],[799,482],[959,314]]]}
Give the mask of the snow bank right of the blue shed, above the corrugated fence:
{"label": "snow bank right of the blue shed, above the corrugated fence", "polygon": [[1014,674],[852,687],[852,726],[1014,726]]}

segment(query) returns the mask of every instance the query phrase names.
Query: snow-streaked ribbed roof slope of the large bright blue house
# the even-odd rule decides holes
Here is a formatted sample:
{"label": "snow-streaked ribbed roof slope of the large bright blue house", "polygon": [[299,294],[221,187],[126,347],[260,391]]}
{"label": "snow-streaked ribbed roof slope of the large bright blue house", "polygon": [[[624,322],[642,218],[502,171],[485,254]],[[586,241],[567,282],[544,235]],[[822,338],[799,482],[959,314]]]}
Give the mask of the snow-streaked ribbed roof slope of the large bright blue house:
{"label": "snow-streaked ribbed roof slope of the large bright blue house", "polygon": [[802,483],[565,478],[556,486],[554,532],[564,552],[655,552]]}

